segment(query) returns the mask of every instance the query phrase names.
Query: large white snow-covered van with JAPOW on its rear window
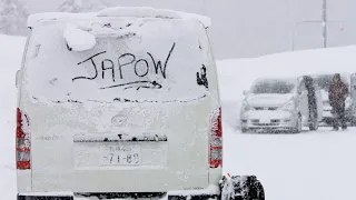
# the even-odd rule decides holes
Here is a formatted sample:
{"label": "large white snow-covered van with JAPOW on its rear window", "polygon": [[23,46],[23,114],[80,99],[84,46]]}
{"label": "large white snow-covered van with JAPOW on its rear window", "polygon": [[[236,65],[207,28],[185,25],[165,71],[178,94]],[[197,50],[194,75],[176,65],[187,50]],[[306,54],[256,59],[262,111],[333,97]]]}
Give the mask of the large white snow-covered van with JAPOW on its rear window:
{"label": "large white snow-covered van with JAPOW on its rear window", "polygon": [[31,16],[17,73],[18,199],[221,197],[208,26],[150,8]]}

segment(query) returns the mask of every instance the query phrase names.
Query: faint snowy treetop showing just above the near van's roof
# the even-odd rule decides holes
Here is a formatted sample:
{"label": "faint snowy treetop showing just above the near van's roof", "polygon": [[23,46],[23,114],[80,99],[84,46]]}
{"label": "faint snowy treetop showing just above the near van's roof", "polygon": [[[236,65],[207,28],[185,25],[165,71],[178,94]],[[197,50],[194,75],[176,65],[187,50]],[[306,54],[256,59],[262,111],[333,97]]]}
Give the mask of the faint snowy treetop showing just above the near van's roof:
{"label": "faint snowy treetop showing just above the near van's roof", "polygon": [[95,12],[107,6],[101,0],[65,0],[59,7],[60,12]]}

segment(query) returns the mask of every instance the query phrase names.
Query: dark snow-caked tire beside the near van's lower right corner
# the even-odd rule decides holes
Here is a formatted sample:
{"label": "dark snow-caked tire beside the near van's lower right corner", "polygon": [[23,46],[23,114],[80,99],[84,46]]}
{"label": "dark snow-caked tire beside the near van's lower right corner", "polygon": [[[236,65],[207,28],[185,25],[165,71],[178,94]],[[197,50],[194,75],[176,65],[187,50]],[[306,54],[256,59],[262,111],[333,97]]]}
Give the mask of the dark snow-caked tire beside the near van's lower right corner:
{"label": "dark snow-caked tire beside the near van's lower right corner", "polygon": [[265,190],[256,176],[222,177],[221,200],[265,200]]}

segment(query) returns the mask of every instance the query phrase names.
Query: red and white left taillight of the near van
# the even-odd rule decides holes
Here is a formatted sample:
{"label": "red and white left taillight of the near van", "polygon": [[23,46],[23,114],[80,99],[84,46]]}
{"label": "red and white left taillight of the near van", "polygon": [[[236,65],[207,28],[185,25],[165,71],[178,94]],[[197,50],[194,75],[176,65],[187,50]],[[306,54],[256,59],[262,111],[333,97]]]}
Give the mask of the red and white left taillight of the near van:
{"label": "red and white left taillight of the near van", "polygon": [[31,169],[30,126],[28,117],[18,108],[16,127],[17,169]]}

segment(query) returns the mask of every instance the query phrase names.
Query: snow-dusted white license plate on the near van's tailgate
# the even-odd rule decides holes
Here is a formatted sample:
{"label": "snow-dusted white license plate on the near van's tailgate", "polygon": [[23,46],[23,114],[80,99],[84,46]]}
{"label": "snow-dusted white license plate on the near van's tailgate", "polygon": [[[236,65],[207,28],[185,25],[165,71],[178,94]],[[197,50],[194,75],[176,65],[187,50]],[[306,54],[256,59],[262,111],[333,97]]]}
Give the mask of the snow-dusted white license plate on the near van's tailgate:
{"label": "snow-dusted white license plate on the near van's tailgate", "polygon": [[139,166],[142,161],[139,146],[105,146],[100,154],[101,166]]}

